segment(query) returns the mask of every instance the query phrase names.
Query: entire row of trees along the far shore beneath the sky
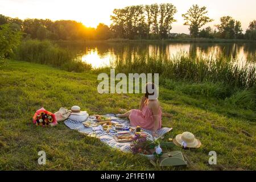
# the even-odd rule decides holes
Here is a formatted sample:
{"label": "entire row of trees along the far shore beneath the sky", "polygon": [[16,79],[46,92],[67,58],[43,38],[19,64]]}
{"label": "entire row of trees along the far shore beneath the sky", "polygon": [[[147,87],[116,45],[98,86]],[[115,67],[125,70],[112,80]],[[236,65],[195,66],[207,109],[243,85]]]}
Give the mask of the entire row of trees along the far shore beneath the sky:
{"label": "entire row of trees along the far shore beneath the sky", "polygon": [[152,5],[127,6],[114,9],[110,16],[112,24],[100,23],[97,28],[86,27],[75,20],[24,19],[0,15],[0,26],[9,24],[11,30],[23,32],[24,39],[49,40],[106,40],[110,38],[125,39],[170,39],[179,37],[222,38],[256,40],[256,20],[250,22],[245,34],[241,22],[231,16],[222,16],[220,24],[206,27],[212,22],[207,7],[193,5],[187,13],[182,14],[184,25],[188,26],[190,35],[171,34],[176,7],[172,3],[154,3]]}

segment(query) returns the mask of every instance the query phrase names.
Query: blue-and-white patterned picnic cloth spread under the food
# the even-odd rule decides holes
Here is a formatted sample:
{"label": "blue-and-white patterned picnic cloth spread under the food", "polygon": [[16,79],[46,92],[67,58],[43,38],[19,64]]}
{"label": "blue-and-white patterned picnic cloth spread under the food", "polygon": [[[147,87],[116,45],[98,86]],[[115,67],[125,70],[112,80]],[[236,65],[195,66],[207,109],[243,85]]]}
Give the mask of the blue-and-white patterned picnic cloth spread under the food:
{"label": "blue-and-white patterned picnic cloth spread under the food", "polygon": [[[128,119],[117,118],[117,117],[115,117],[115,114],[105,114],[105,116],[110,117],[112,122],[117,122],[117,123],[123,124],[123,125],[125,125],[125,127],[131,127],[130,121]],[[96,117],[89,116],[85,122],[88,122],[88,121],[97,121],[97,120],[96,120]],[[69,129],[77,130],[83,134],[96,136],[102,142],[108,144],[110,147],[118,148],[119,150],[124,151],[124,152],[131,151],[130,150],[130,142],[120,143],[120,142],[115,141],[113,136],[118,135],[117,131],[115,131],[115,130],[110,130],[109,133],[106,133],[106,131],[100,129],[100,127],[98,127],[98,128],[85,127],[82,122],[73,121],[71,119],[65,120],[64,123],[67,127],[69,127]],[[97,130],[94,130],[94,129],[97,129]],[[153,141],[154,139],[156,140],[156,139],[159,139],[160,137],[163,137],[164,134],[168,133],[171,130],[172,130],[172,128],[162,127],[162,129],[160,129],[156,132],[158,134],[157,138],[152,137],[152,131],[150,131],[150,130],[143,129],[143,132],[147,133],[148,140]]]}

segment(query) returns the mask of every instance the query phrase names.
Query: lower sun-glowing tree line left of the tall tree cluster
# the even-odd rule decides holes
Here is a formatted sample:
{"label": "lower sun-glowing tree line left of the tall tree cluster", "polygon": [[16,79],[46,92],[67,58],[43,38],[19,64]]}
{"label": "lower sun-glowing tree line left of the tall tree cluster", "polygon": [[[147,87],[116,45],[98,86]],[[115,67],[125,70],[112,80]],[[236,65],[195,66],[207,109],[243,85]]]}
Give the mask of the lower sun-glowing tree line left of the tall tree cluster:
{"label": "lower sun-glowing tree line left of the tall tree cluster", "polygon": [[24,19],[0,15],[1,24],[11,24],[15,30],[23,32],[26,39],[49,40],[94,40],[109,39],[109,27],[103,23],[97,28],[85,27],[75,20]]}

